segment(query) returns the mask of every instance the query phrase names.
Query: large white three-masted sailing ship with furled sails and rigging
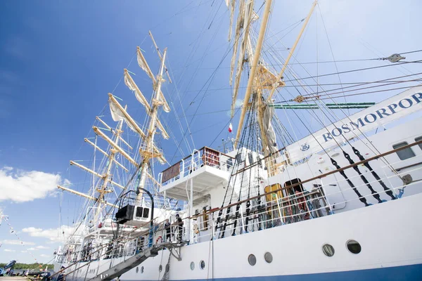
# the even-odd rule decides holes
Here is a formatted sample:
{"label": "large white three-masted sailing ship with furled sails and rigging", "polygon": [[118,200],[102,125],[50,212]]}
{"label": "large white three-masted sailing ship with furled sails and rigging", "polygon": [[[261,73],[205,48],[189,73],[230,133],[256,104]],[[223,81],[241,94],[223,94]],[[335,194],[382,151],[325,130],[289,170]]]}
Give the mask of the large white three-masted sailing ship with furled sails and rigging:
{"label": "large white three-masted sailing ship with furled sails and rigging", "polygon": [[[163,87],[172,73],[167,49],[150,32],[158,72],[137,47],[140,71],[135,77],[123,70],[137,103],[108,93],[108,107],[84,139],[92,165],[70,162],[87,173],[88,192],[58,186],[86,201],[56,251],[56,275],[75,281],[421,280],[419,74],[338,86],[319,81],[324,75],[300,77],[289,63],[297,62],[317,1],[297,23],[286,58],[270,40],[274,1],[224,4],[232,137],[222,148],[192,148],[168,163],[160,141],[174,129],[162,122],[172,109]],[[404,55],[379,60],[392,67],[420,63]],[[139,89],[135,78],[149,79],[152,89]],[[379,103],[345,100],[393,90]],[[132,114],[139,109],[143,120]]]}

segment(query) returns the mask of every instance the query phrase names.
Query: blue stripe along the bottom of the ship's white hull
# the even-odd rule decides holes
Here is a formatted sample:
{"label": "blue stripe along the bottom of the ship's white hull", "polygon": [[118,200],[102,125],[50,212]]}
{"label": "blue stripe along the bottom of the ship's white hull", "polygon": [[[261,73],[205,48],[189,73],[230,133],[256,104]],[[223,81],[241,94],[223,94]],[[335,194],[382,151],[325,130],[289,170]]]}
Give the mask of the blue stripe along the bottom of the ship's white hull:
{"label": "blue stripe along the bottom of the ship's white hull", "polygon": [[[170,268],[171,270],[174,268]],[[139,279],[141,280],[141,279]],[[196,279],[195,281],[210,281],[209,279]],[[237,277],[237,278],[215,278],[216,281],[408,281],[422,280],[422,264],[411,266],[393,266],[388,268],[372,268],[364,270],[340,271],[333,273],[312,273],[298,275],[279,275],[279,276],[257,276],[257,277]],[[122,280],[124,281],[124,280]],[[129,280],[126,280],[129,281]],[[133,281],[133,280],[131,280]],[[156,280],[151,280],[156,281]],[[177,280],[192,281],[192,280]]]}

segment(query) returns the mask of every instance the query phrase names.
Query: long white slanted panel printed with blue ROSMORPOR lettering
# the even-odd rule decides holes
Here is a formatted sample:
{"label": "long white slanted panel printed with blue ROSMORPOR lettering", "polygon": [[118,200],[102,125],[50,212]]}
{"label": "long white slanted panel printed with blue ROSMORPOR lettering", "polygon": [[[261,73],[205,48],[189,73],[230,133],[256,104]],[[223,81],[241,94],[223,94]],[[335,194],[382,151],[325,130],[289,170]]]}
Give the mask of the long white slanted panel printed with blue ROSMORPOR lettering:
{"label": "long white slanted panel printed with blue ROSMORPOR lettering", "polygon": [[286,150],[291,162],[296,162],[323,149],[342,144],[345,138],[348,140],[356,138],[362,133],[419,110],[422,110],[422,86],[411,88],[326,126],[313,133],[313,136],[307,136],[288,145]]}

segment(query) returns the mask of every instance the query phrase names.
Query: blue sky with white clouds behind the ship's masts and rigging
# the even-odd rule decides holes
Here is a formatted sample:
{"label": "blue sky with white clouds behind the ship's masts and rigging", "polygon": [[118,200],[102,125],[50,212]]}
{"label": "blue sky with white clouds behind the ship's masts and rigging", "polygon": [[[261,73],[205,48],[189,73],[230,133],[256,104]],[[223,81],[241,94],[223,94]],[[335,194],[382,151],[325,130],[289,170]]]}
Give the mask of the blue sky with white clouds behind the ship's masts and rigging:
{"label": "blue sky with white clouds behind the ship's masts and rigging", "polygon": [[[134,79],[141,91],[148,98],[151,96],[151,83],[137,66],[136,58],[132,60],[136,46],[141,46],[153,72],[158,71],[158,57],[149,37],[146,38],[148,30],[152,30],[160,48],[168,47],[167,67],[174,80],[173,84],[166,84],[164,93],[175,106],[171,114],[162,115],[162,120],[174,132],[176,141],[159,140],[167,159],[176,162],[182,156],[177,150],[182,133],[174,121],[175,114],[181,115],[177,91],[183,107],[187,107],[188,122],[198,109],[191,124],[196,148],[216,147],[222,138],[228,137],[225,127],[229,117],[224,110],[229,110],[231,103],[228,85],[231,53],[213,75],[229,49],[226,40],[229,16],[225,4],[220,4],[207,0],[1,1],[0,191],[6,192],[0,195],[0,207],[8,214],[9,223],[20,239],[28,243],[27,248],[34,248],[30,251],[37,260],[45,262],[53,257],[61,233],[57,230],[59,196],[53,188],[65,179],[73,183],[81,179],[72,178],[72,170],[69,174],[69,160],[89,159],[85,154],[89,150],[82,146],[83,138],[93,136],[89,131],[96,115],[108,113],[107,93],[115,89],[113,93],[129,105],[129,112],[139,122],[143,120],[143,109],[121,78],[123,69],[129,65],[128,69],[136,73]],[[269,35],[305,18],[311,4],[312,0],[277,0]],[[381,0],[320,1],[335,59],[379,58],[420,49],[421,5],[416,0],[400,4]],[[319,15],[319,10],[316,14]],[[313,17],[298,47],[298,60],[316,61],[316,41],[318,59],[332,60],[322,28],[321,18]],[[291,46],[298,31],[295,28],[289,34],[279,34],[286,34],[281,40],[283,44],[276,45],[284,58],[287,52],[283,46]],[[418,59],[417,55],[409,58]],[[338,70],[382,64],[385,62],[354,62],[340,64]],[[407,70],[418,72],[414,66]],[[371,81],[404,75],[402,72],[407,70],[354,73],[342,79]],[[300,67],[296,71],[302,77],[308,76]],[[308,71],[316,74],[314,66],[309,66]],[[320,74],[330,72],[335,72],[332,64],[319,67]],[[335,81],[336,77],[330,79]],[[243,79],[243,85],[245,82]],[[202,102],[200,89],[208,89]],[[219,90],[211,91],[215,89]],[[359,100],[378,101],[392,94]],[[289,98],[289,93],[285,95]],[[242,96],[240,91],[239,98]],[[222,112],[204,114],[213,111]],[[184,119],[181,122],[186,128]],[[236,130],[236,118],[233,124]],[[212,143],[214,139],[217,141]],[[183,154],[188,154],[184,143],[181,149]],[[72,223],[80,200],[66,194],[64,198],[61,223],[67,225]],[[25,251],[22,245],[13,242],[17,238],[6,223],[0,227],[0,240],[3,241],[1,262],[33,261],[32,255],[22,252]]]}

